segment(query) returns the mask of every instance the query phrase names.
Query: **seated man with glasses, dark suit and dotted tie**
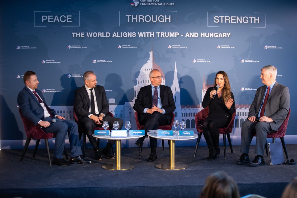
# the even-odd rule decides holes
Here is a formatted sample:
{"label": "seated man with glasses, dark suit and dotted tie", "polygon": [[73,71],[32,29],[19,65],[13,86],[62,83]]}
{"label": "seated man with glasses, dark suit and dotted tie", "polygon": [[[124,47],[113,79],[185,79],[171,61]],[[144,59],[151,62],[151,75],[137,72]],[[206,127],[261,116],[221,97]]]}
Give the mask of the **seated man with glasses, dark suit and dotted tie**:
{"label": "seated man with glasses, dark suit and dotted tie", "polygon": [[[158,69],[151,70],[149,74],[151,85],[140,88],[133,109],[140,115],[140,124],[144,125],[146,132],[156,130],[159,126],[169,125],[175,103],[170,87],[161,85],[162,74]],[[135,144],[142,147],[145,137],[140,137]],[[157,159],[157,139],[150,137],[151,154],[147,161]]]}

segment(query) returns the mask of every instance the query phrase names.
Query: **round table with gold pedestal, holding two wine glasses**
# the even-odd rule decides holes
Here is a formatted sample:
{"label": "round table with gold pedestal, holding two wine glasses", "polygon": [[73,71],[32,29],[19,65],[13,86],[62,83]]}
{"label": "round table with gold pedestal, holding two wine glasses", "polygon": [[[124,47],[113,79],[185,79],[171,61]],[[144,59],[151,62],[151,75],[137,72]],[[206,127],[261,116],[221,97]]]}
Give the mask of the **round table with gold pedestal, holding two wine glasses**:
{"label": "round table with gold pedestal, holding two wine glasses", "polygon": [[163,140],[169,140],[169,148],[170,148],[170,155],[169,155],[169,164],[158,164],[156,167],[163,170],[182,170],[189,168],[186,164],[176,164],[175,163],[175,141],[176,140],[193,140],[198,138],[197,134],[194,134],[194,136],[158,136],[157,133],[154,132],[148,132],[148,136],[154,137],[157,139],[163,139]]}

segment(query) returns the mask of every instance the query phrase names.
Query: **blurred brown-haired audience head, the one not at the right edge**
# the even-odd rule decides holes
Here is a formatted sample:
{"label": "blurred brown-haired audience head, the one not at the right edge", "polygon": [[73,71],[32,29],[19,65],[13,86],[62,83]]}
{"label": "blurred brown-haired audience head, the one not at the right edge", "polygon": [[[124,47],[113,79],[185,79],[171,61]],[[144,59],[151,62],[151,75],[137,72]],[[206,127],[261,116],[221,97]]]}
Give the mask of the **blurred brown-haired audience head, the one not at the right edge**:
{"label": "blurred brown-haired audience head, the one not at the right edge", "polygon": [[219,171],[206,178],[200,198],[239,198],[239,191],[235,181]]}

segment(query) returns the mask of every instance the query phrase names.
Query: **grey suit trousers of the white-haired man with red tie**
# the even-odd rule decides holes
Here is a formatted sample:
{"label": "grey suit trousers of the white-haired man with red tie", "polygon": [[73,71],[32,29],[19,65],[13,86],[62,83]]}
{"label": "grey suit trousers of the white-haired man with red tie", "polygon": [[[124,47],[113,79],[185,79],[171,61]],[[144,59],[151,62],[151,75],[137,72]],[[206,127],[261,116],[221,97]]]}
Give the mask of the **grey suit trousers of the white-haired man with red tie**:
{"label": "grey suit trousers of the white-haired man with red tie", "polygon": [[264,148],[266,143],[267,133],[275,132],[271,129],[268,122],[251,122],[249,120],[244,121],[241,126],[241,153],[249,153],[249,146],[252,142],[253,133],[256,132],[256,155],[264,155]]}

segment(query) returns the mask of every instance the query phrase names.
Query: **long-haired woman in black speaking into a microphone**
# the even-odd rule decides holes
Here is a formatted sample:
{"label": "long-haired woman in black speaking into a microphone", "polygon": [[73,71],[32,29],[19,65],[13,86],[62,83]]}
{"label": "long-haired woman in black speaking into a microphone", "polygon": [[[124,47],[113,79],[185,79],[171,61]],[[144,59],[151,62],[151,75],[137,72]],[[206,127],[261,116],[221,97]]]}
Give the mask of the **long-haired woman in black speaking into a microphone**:
{"label": "long-haired woman in black speaking into a microphone", "polygon": [[217,159],[221,152],[219,128],[228,126],[235,111],[234,96],[226,72],[217,72],[214,87],[207,89],[202,107],[209,108],[208,116],[203,122],[203,135],[209,149],[207,160],[213,160]]}

